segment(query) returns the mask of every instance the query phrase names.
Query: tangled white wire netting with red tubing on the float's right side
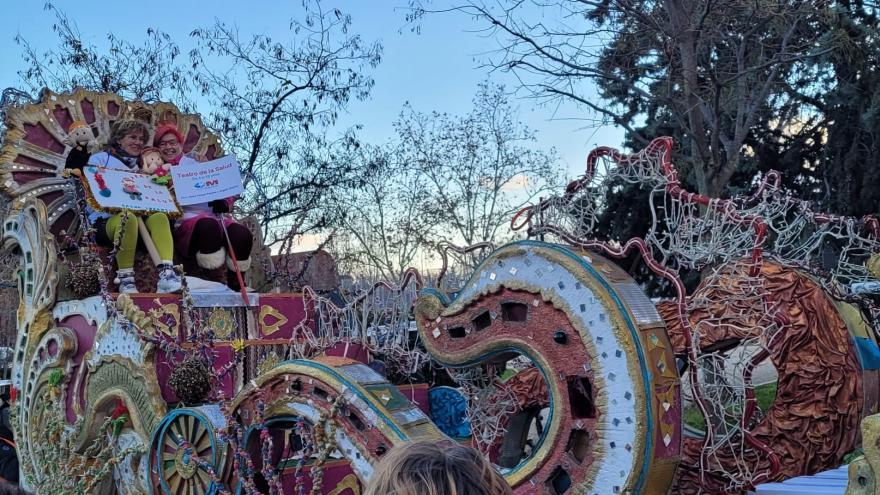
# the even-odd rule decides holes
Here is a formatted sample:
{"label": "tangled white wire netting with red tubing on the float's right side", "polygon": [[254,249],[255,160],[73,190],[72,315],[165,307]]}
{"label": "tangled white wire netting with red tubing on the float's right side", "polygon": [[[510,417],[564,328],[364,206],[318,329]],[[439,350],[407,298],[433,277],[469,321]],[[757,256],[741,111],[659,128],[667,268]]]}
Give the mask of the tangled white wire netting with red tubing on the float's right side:
{"label": "tangled white wire netting with red tubing on the float's right side", "polygon": [[[631,155],[597,148],[587,158],[586,173],[564,194],[522,209],[511,228],[527,227],[529,236],[552,236],[616,258],[637,252],[669,284],[674,300],[667,304],[675,321],[667,325],[680,329],[687,362],[683,381],[706,422],[698,459],[690,459],[699,470],[696,483],[712,493],[738,492],[784,474],[785,459],[755,434],[762,412],[751,374],[790,325],[763,272],[778,264],[808,274],[827,294],[871,316],[876,338],[880,312],[869,296],[880,293],[880,283],[869,267],[880,253],[880,223],[816,212],[780,187],[777,172],[766,174],[750,196],[719,199],[689,192],[672,164],[672,149],[667,137]],[[596,228],[606,194],[623,184],[650,188],[652,222],[644,237],[621,244],[600,239]],[[699,271],[701,287],[713,290],[688,295],[685,270]],[[736,304],[719,313],[725,301]],[[701,318],[694,321],[694,315]],[[701,345],[725,332],[747,336],[739,345],[751,351],[731,363],[729,349]],[[729,376],[738,379],[724,379]],[[683,460],[685,471],[687,465]],[[700,489],[679,485],[685,493]]]}

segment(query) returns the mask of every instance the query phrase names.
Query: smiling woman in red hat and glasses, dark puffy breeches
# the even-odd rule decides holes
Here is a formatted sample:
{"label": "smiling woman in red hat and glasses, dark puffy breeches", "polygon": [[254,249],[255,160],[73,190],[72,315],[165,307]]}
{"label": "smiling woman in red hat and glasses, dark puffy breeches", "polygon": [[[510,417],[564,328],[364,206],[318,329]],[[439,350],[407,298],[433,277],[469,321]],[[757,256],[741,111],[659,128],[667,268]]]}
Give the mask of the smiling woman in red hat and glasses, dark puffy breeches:
{"label": "smiling woman in red hat and glasses, dark puffy breeches", "polygon": [[[160,124],[153,136],[154,146],[159,148],[162,158],[172,166],[197,164],[198,161],[183,154],[183,142],[183,135],[173,123]],[[232,258],[226,252],[228,235],[239,270],[247,271],[251,265],[254,237],[244,225],[229,216],[221,216],[232,210],[234,202],[235,198],[226,198],[183,206],[183,216],[174,229],[177,252],[187,258],[195,257],[198,265],[207,270],[215,270],[225,263],[226,268],[234,272]],[[234,274],[227,276],[227,280],[230,287],[239,289]]]}

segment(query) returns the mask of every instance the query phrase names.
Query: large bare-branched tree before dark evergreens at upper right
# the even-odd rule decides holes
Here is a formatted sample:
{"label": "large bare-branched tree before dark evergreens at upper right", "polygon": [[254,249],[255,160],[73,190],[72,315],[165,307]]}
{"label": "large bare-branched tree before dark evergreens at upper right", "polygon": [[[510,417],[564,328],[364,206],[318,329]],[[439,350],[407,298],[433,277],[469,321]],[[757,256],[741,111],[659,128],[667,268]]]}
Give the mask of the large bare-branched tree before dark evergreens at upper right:
{"label": "large bare-branched tree before dark evergreens at upper right", "polygon": [[[426,11],[413,3],[415,16]],[[830,7],[796,0],[471,0],[451,9],[485,21],[501,45],[487,64],[514,73],[528,94],[575,102],[639,148],[658,127],[672,131],[679,168],[710,196],[725,192],[756,126],[802,122],[790,81],[807,80],[813,60],[836,47],[821,29]]]}

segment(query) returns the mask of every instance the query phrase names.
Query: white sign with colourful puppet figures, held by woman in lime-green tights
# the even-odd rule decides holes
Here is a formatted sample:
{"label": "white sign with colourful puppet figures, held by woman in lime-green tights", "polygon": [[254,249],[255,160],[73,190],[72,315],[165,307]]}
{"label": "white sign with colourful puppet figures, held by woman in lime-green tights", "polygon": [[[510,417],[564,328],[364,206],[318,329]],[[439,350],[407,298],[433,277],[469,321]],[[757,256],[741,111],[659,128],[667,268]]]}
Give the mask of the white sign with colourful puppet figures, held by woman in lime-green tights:
{"label": "white sign with colourful puppet figures, held by woman in lime-green tights", "polygon": [[102,210],[180,213],[168,186],[156,184],[149,175],[87,165],[82,181],[89,203]]}

